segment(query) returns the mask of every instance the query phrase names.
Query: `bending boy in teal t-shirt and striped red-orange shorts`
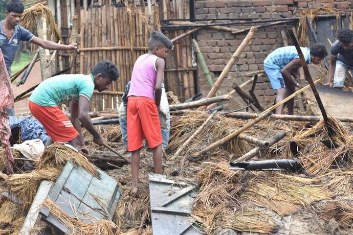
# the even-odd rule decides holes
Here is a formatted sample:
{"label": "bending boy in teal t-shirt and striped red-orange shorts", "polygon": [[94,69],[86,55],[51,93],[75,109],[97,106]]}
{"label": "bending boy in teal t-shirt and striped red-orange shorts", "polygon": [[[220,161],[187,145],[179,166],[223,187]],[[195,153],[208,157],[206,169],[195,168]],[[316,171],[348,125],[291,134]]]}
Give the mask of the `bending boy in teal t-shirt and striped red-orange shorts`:
{"label": "bending boy in teal t-shirt and striped red-orange shorts", "polygon": [[[49,78],[39,84],[29,98],[28,106],[34,117],[46,129],[46,146],[54,142],[69,142],[89,154],[84,146],[81,125],[93,135],[93,142],[103,144],[103,138],[94,128],[90,115],[90,99],[94,89],[103,91],[119,77],[117,66],[107,60],[96,64],[91,74],[65,74]],[[59,108],[70,102],[70,120]]]}

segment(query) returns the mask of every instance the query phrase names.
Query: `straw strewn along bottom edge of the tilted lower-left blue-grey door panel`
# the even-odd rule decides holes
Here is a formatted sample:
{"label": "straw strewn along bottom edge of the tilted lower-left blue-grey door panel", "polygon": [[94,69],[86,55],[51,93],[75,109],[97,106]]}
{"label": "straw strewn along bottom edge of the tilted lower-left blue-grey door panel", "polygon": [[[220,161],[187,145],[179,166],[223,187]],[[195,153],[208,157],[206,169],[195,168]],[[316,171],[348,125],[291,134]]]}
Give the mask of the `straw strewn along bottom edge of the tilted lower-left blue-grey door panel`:
{"label": "straw strewn along bottom edge of the tilted lower-left blue-grey door panel", "polygon": [[86,224],[79,221],[79,218],[71,218],[58,205],[50,199],[46,199],[42,207],[49,209],[50,213],[60,220],[62,224],[68,226],[72,230],[72,234],[83,235],[114,235],[118,227],[112,221],[100,220],[94,224]]}

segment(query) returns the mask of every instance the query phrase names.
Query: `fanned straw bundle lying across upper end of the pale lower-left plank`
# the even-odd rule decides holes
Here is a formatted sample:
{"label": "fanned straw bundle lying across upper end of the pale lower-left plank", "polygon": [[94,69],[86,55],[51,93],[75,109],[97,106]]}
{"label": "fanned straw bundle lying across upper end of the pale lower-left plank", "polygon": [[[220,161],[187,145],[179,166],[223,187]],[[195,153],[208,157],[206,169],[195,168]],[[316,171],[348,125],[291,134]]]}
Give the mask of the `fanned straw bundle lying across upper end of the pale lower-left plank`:
{"label": "fanned straw bundle lying across upper end of the pale lower-left plank", "polygon": [[37,169],[30,173],[13,174],[6,182],[10,191],[23,200],[25,206],[28,206],[29,203],[32,203],[37,193],[40,181],[47,179],[55,182],[60,172],[56,168]]}

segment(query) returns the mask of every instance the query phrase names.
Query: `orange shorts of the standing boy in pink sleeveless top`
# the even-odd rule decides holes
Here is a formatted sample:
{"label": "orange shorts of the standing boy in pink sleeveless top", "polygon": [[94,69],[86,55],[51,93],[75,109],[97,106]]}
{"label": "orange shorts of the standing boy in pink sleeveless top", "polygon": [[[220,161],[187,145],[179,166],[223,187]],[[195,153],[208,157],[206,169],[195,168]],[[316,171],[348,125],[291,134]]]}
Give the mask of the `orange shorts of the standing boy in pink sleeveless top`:
{"label": "orange shorts of the standing boy in pink sleeveless top", "polygon": [[143,147],[147,139],[149,148],[162,144],[161,124],[155,100],[147,97],[128,97],[127,147],[135,151]]}

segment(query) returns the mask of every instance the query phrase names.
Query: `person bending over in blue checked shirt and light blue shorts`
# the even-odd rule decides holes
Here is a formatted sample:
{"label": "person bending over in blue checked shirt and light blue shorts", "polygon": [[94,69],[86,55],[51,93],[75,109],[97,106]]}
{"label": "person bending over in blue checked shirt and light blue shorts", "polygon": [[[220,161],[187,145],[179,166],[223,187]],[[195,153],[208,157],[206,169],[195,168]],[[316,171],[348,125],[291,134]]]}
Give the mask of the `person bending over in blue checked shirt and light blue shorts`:
{"label": "person bending over in blue checked shirt and light blue shorts", "polygon": [[[310,49],[301,48],[305,62],[307,64],[319,64],[327,56],[324,45],[315,44]],[[276,104],[295,92],[295,87],[299,87],[295,79],[299,79],[298,68],[301,67],[298,52],[295,46],[284,46],[278,48],[263,61],[263,69],[270,79],[272,89],[276,90]],[[286,103],[288,114],[294,113],[294,99]],[[278,106],[276,114],[283,114],[284,104]]]}

